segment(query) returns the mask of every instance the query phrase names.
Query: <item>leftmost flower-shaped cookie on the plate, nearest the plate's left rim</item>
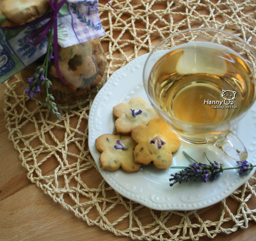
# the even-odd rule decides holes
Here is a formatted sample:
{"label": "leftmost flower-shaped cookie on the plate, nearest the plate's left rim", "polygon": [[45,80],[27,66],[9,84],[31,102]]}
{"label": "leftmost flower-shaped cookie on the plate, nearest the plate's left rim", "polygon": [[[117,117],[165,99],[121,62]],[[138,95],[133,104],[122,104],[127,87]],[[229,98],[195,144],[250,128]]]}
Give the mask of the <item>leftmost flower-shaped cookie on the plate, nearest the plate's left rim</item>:
{"label": "leftmost flower-shaped cookie on the plate, nearest the plate's left rim", "polygon": [[133,152],[136,142],[131,136],[113,132],[99,136],[96,148],[100,152],[100,165],[103,169],[115,171],[120,167],[128,172],[139,171],[141,164],[134,162]]}

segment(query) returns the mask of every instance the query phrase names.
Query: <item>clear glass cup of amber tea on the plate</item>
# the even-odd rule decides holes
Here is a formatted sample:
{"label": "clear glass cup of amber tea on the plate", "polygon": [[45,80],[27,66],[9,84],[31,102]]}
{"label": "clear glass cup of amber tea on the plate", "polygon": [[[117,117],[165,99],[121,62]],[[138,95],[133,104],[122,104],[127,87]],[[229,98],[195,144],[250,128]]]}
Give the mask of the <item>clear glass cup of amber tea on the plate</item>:
{"label": "clear glass cup of amber tea on the plate", "polygon": [[252,47],[232,33],[188,29],[149,54],[144,87],[159,117],[180,139],[213,144],[232,159],[246,160],[246,148],[230,128],[255,102],[255,61]]}

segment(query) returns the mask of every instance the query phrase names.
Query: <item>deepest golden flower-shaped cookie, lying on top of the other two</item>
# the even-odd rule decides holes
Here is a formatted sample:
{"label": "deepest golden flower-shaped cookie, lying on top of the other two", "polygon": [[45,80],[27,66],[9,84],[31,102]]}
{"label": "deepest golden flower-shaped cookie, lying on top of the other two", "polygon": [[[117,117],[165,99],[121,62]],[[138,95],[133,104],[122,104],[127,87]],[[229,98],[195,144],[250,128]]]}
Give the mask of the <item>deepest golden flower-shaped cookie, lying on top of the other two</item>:
{"label": "deepest golden flower-shaped cookie, lying on top of the other two", "polygon": [[167,169],[172,163],[172,153],[180,146],[179,137],[168,132],[168,126],[160,118],[154,118],[145,125],[132,128],[131,136],[138,144],[134,149],[134,161],[148,165],[151,162],[160,169]]}

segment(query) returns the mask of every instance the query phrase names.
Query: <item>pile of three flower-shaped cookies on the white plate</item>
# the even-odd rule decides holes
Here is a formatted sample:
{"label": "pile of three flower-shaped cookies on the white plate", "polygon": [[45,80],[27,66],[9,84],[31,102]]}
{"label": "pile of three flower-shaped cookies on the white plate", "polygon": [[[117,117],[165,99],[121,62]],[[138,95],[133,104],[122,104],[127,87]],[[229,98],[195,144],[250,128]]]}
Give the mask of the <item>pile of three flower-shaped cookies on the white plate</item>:
{"label": "pile of three flower-shaped cookies on the white plate", "polygon": [[113,107],[116,131],[96,139],[96,148],[101,153],[103,169],[115,171],[139,171],[140,166],[154,164],[167,169],[172,163],[172,153],[180,146],[179,137],[168,132],[152,107],[141,98],[132,98],[129,104]]}

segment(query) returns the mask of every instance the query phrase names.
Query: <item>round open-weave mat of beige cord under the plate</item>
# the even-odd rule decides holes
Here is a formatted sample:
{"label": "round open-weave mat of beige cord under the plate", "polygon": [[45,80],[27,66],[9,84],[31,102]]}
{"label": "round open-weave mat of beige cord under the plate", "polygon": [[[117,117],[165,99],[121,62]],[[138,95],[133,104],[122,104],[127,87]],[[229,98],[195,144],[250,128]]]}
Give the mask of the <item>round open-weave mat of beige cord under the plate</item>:
{"label": "round open-weave mat of beige cord under the plate", "polygon": [[[251,45],[255,40],[254,1],[110,1],[117,12],[100,3],[108,74],[151,51],[166,36],[190,27],[231,31]],[[222,208],[211,206],[209,212],[159,212],[120,196],[102,179],[88,150],[92,102],[56,120],[24,95],[19,80],[7,81],[5,93],[6,127],[28,178],[89,225],[138,240],[198,240],[256,221],[254,177],[221,201]]]}

